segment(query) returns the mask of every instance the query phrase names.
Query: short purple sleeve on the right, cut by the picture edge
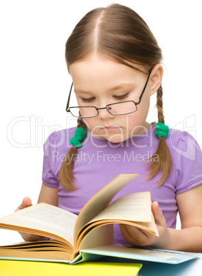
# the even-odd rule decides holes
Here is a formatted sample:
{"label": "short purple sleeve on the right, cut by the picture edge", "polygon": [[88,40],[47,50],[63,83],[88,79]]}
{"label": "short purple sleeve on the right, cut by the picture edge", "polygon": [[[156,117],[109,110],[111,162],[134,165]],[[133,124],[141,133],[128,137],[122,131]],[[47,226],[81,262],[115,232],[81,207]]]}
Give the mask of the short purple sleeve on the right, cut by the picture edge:
{"label": "short purple sleeve on the right, cut by the picture edge", "polygon": [[202,152],[190,133],[183,131],[178,141],[175,158],[176,194],[202,183]]}

